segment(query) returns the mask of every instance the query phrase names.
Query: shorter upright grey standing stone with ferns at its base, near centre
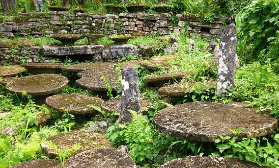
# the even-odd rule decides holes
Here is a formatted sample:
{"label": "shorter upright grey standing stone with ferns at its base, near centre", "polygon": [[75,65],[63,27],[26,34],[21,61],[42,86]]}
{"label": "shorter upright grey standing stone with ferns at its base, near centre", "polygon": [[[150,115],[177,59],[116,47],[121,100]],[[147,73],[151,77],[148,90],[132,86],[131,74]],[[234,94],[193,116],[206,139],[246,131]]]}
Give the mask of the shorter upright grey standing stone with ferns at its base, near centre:
{"label": "shorter upright grey standing stone with ferns at its base, near centre", "polygon": [[138,85],[138,74],[134,68],[127,68],[121,71],[122,96],[118,101],[120,117],[117,122],[126,124],[131,121],[132,114],[129,110],[140,113],[140,90]]}

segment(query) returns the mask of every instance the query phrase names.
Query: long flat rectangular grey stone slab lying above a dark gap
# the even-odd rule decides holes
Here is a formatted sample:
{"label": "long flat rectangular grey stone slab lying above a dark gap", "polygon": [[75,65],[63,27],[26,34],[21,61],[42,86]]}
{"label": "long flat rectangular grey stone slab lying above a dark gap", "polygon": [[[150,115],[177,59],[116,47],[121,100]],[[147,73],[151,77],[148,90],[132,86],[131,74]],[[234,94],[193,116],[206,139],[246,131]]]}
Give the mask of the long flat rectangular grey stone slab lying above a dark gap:
{"label": "long flat rectangular grey stone slab lying above a dark gap", "polygon": [[102,53],[103,49],[103,45],[71,47],[43,46],[42,54],[43,56],[95,55]]}

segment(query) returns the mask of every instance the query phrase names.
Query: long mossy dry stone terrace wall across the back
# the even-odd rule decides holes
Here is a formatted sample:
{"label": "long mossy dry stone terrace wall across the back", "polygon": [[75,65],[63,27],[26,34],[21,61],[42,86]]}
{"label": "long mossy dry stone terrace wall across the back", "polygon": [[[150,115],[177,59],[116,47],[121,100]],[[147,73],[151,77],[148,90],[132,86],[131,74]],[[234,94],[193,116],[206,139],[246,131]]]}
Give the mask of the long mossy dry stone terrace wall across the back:
{"label": "long mossy dry stone terrace wall across the back", "polygon": [[[0,36],[43,35],[56,33],[71,34],[170,34],[190,33],[210,34],[219,37],[222,34],[222,19],[214,17],[212,23],[202,23],[202,18],[169,13],[143,14],[120,13],[119,15],[48,12],[20,13],[18,17],[8,18],[0,24]],[[175,21],[174,21],[175,20]],[[226,20],[226,22],[230,22]]]}

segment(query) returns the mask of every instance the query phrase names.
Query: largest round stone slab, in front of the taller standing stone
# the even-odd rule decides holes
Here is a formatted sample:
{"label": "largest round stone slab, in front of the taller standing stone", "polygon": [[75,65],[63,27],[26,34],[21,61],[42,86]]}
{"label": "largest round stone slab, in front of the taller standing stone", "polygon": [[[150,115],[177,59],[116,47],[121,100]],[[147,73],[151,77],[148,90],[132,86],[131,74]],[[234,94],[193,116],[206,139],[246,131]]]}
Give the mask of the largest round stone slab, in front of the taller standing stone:
{"label": "largest round stone slab, in front of the taller standing stone", "polygon": [[229,129],[240,127],[244,129],[236,135],[238,140],[264,136],[277,129],[277,119],[244,105],[240,102],[190,102],[160,110],[153,120],[161,132],[190,141],[214,142],[219,135],[233,137]]}

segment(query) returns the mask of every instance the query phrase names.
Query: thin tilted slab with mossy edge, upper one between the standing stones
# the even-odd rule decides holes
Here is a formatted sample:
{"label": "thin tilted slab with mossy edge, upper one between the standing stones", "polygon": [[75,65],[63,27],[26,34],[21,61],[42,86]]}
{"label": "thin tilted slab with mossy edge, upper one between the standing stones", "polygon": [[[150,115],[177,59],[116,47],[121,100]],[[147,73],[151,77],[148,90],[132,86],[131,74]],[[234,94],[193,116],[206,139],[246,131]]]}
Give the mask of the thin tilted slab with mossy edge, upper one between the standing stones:
{"label": "thin tilted slab with mossy edge, upper one between the standing stones", "polygon": [[142,78],[142,82],[153,83],[156,86],[164,86],[171,79],[181,79],[184,76],[190,75],[192,72],[175,72],[175,73],[166,73],[160,74],[157,76],[145,77]]}

